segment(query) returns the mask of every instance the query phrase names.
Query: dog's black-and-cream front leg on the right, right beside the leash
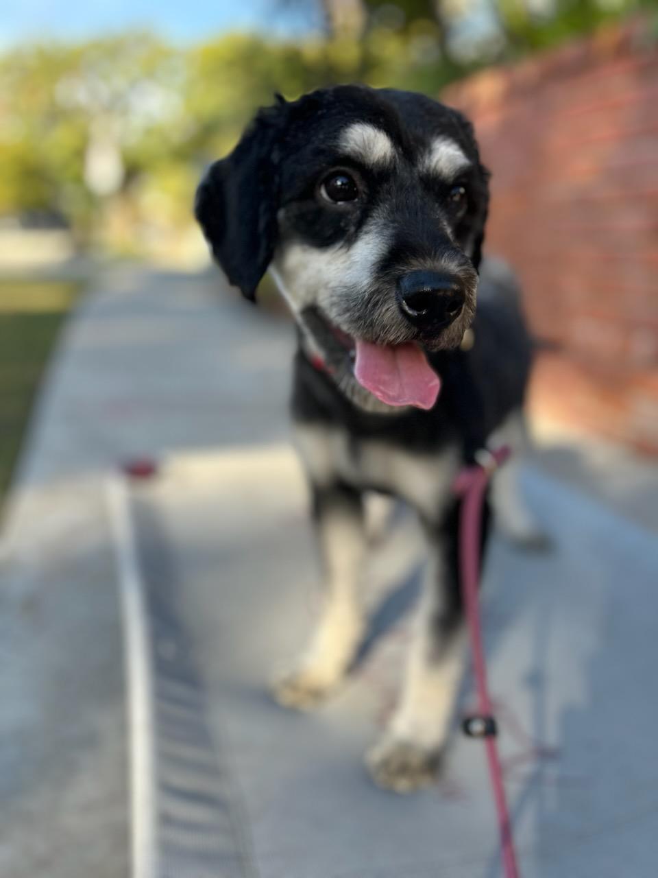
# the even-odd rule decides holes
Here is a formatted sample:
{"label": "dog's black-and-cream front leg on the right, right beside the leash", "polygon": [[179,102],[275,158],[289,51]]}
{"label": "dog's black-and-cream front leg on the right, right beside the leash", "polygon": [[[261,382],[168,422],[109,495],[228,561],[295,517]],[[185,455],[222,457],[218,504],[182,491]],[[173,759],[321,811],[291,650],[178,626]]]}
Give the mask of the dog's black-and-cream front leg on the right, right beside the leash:
{"label": "dog's black-and-cream front leg on the right, right beside the leash", "polygon": [[375,782],[398,793],[433,782],[445,748],[465,658],[457,571],[458,507],[427,527],[430,561],[403,691],[383,738],[368,752]]}

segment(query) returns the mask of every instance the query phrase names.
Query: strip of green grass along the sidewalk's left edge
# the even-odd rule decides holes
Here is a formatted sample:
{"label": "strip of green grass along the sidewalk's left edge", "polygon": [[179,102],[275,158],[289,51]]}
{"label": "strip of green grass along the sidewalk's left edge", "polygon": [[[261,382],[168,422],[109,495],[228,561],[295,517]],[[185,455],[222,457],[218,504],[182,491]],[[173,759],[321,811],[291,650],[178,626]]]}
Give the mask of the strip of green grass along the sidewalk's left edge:
{"label": "strip of green grass along the sidewalk's left edge", "polygon": [[0,280],[0,502],[39,381],[80,284]]}

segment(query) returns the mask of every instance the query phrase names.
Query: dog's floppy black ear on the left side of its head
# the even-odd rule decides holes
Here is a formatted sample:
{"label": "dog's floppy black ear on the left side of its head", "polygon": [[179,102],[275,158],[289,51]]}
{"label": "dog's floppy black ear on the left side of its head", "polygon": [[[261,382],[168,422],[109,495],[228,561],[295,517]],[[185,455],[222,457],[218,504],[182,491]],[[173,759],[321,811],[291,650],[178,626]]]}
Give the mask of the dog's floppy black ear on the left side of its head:
{"label": "dog's floppy black ear on the left side of its head", "polygon": [[195,201],[215,259],[252,301],[276,244],[283,112],[277,106],[258,113],[231,155],[208,169]]}

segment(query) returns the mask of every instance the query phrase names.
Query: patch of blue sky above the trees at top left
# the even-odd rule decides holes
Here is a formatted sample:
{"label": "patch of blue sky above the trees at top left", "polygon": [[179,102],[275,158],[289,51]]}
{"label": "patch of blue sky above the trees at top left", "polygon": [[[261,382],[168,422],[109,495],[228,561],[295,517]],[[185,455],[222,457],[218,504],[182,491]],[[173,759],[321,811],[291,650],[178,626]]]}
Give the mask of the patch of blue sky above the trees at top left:
{"label": "patch of blue sky above the trees at top left", "polygon": [[228,30],[297,35],[319,25],[314,0],[4,0],[2,5],[2,47],[144,27],[175,42],[190,42]]}

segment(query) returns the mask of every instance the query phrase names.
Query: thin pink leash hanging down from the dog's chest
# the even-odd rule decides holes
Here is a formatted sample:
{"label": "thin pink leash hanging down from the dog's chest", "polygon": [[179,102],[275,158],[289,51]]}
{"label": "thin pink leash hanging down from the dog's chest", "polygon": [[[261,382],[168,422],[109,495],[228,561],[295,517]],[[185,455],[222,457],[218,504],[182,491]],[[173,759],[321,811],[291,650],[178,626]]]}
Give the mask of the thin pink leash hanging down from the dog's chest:
{"label": "thin pink leash hanging down from the dog's chest", "polygon": [[514,841],[511,836],[510,812],[505,798],[503,772],[496,745],[497,726],[493,716],[487,669],[484,662],[482,628],[478,608],[480,579],[480,540],[484,493],[491,473],[510,456],[509,448],[483,450],[476,455],[477,464],[463,469],[454,481],[454,491],[461,495],[460,566],[461,594],[466,609],[468,633],[473,652],[473,670],[476,677],[476,716],[464,720],[463,730],[470,738],[483,738],[489,761],[491,788],[496,801],[501,854],[505,878],[519,878]]}

